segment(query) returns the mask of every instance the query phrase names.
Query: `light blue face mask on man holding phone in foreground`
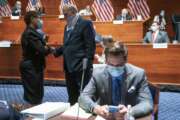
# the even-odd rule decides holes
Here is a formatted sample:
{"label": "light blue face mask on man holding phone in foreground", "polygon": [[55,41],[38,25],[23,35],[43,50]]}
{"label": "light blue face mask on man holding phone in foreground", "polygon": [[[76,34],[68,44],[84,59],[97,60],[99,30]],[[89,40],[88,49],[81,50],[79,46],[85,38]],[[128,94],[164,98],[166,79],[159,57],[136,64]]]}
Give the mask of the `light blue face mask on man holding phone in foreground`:
{"label": "light blue face mask on man holding phone in foreground", "polygon": [[124,73],[124,65],[123,66],[112,66],[107,65],[108,72],[111,74],[112,77],[118,77]]}

